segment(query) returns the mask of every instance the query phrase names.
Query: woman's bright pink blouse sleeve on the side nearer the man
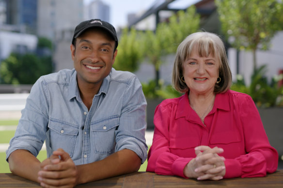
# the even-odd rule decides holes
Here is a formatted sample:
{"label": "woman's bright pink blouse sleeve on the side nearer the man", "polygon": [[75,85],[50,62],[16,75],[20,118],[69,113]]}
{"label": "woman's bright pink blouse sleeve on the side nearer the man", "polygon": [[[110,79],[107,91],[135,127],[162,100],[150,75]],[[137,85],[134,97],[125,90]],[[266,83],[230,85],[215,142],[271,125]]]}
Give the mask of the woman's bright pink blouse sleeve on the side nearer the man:
{"label": "woman's bright pink blouse sleeve on the side nearer the man", "polygon": [[159,104],[154,115],[153,144],[148,152],[146,171],[163,175],[177,175],[181,177],[185,166],[193,158],[181,158],[170,152],[169,123],[172,113],[172,104],[163,106]]}

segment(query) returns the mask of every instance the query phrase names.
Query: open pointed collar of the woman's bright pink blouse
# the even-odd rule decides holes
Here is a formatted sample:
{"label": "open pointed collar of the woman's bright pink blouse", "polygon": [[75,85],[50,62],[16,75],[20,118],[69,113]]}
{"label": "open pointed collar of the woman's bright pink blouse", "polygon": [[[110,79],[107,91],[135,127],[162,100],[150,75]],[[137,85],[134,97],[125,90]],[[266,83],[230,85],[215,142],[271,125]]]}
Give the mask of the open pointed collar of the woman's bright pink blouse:
{"label": "open pointed collar of the woman's bright pink blouse", "polygon": [[[194,116],[196,114],[193,113],[193,109],[189,106],[188,95],[189,93],[186,92],[183,96],[180,97],[175,115],[176,119],[180,117],[186,117],[186,119],[189,119],[191,116]],[[214,113],[216,109],[230,111],[229,95],[225,95],[224,93],[216,94],[212,113]]]}

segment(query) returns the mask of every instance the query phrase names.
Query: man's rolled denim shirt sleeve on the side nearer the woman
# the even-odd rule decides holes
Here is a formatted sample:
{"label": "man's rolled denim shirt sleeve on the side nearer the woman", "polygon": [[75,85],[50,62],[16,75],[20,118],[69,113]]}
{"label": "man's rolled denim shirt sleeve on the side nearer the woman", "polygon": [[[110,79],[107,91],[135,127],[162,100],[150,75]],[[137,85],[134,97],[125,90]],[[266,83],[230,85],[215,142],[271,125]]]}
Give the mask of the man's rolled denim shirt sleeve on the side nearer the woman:
{"label": "man's rolled denim shirt sleeve on the side nearer the woman", "polygon": [[146,100],[142,92],[142,85],[136,76],[133,76],[126,87],[122,105],[120,126],[115,132],[115,151],[130,149],[142,159],[143,163],[147,158],[145,143]]}

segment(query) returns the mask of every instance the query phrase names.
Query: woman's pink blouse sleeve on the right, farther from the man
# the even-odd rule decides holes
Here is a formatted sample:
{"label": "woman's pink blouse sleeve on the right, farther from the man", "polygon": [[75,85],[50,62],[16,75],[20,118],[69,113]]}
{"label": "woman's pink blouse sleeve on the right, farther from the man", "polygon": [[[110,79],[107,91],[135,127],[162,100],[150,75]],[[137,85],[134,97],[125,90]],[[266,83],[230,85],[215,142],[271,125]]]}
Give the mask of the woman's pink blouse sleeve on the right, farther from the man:
{"label": "woman's pink blouse sleeve on the right, farther from the man", "polygon": [[239,101],[239,115],[245,138],[246,155],[226,159],[224,178],[262,177],[278,166],[278,153],[270,146],[258,110],[249,95]]}

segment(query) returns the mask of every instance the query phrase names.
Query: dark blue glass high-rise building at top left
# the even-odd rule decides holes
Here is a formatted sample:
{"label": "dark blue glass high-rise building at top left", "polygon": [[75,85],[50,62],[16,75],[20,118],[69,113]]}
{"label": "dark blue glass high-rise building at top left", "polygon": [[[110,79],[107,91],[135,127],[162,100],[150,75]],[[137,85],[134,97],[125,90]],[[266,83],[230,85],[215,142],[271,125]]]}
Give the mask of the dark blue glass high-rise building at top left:
{"label": "dark blue glass high-rise building at top left", "polygon": [[37,0],[6,0],[6,23],[24,26],[25,32],[36,34]]}

